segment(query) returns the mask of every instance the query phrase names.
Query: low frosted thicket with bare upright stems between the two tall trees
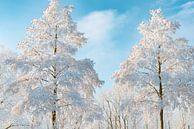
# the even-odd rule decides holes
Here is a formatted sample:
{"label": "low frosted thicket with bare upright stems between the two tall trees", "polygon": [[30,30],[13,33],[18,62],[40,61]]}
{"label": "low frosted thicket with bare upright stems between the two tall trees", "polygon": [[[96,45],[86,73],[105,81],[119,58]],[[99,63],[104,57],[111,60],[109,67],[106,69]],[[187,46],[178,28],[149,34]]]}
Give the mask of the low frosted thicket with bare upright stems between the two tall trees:
{"label": "low frosted thicket with bare upright stems between the two tall trees", "polygon": [[[138,110],[135,95],[129,87],[113,87],[103,94],[100,105],[103,109],[101,127],[108,129],[139,129],[142,127],[142,112]],[[103,129],[102,128],[102,129]]]}

